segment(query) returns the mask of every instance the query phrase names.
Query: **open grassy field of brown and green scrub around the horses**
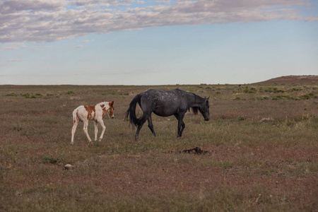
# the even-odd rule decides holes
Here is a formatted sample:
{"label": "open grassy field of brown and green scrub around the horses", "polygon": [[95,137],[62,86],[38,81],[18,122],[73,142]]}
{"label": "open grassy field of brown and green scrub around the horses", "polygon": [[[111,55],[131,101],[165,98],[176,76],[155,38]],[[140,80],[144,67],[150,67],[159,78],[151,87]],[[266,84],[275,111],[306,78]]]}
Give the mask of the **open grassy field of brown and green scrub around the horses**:
{"label": "open grassy field of brown and green scrub around the horses", "polygon": [[[153,115],[158,137],[134,141],[124,112],[148,88],[210,96],[211,120],[187,114],[177,139]],[[73,110],[104,100],[104,139],[80,123],[71,146]],[[0,211],[318,210],[317,84],[0,86],[0,129]]]}

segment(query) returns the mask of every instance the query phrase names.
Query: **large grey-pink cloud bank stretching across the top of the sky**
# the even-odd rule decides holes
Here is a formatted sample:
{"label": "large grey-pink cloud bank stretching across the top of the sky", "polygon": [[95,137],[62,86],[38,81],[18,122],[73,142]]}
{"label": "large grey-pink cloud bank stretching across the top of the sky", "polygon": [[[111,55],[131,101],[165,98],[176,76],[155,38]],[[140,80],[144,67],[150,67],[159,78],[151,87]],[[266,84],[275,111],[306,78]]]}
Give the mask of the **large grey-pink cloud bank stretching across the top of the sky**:
{"label": "large grey-pink cloud bank stretching across the top of the sky", "polygon": [[312,6],[309,0],[176,0],[133,7],[134,2],[141,1],[3,0],[0,42],[52,42],[167,25],[318,19],[299,14]]}

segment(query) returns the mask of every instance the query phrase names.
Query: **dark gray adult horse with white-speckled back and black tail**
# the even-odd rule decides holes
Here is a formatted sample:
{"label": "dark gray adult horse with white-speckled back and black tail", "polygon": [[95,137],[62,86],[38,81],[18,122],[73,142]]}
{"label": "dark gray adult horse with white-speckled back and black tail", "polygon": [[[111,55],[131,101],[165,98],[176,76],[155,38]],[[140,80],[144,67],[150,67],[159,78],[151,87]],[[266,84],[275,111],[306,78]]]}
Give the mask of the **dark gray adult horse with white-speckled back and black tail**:
{"label": "dark gray adult horse with white-speckled back and black tail", "polygon": [[[140,118],[136,117],[137,102],[141,107],[141,110],[143,110],[143,115]],[[143,93],[139,93],[133,100],[131,100],[129,108],[126,112],[126,119],[129,117],[131,125],[138,127],[135,135],[135,139],[138,139],[139,131],[147,120],[151,132],[153,133],[153,136],[155,136],[153,122],[151,119],[152,112],[160,117],[174,115],[178,119],[177,137],[181,137],[185,126],[182,119],[190,107],[192,107],[194,114],[197,114],[199,110],[205,121],[210,119],[208,98],[201,98],[199,95],[195,95],[194,93],[189,93],[180,89],[150,89],[144,91]]]}

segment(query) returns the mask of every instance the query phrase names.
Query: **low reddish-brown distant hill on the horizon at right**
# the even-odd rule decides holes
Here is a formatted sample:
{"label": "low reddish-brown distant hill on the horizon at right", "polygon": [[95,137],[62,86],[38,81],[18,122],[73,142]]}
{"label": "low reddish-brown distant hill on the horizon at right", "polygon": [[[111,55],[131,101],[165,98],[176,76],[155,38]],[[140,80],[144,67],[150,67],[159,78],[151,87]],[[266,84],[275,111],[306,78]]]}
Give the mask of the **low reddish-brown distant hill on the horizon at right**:
{"label": "low reddish-brown distant hill on the horizon at right", "polygon": [[257,85],[292,85],[292,84],[304,84],[304,85],[318,85],[317,75],[308,76],[281,76],[278,78],[272,78],[268,81],[254,83]]}

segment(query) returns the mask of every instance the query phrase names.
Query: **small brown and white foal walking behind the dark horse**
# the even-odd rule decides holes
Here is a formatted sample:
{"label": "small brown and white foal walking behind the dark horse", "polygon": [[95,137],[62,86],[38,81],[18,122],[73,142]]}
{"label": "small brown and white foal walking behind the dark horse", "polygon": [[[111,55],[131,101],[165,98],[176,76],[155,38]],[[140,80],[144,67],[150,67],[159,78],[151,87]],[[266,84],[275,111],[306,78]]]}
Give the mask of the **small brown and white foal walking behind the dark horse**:
{"label": "small brown and white foal walking behind the dark horse", "polygon": [[83,131],[86,134],[88,141],[92,141],[90,139],[90,136],[88,135],[88,121],[93,120],[94,126],[95,126],[95,141],[97,140],[97,134],[98,134],[98,124],[102,126],[102,134],[100,134],[100,140],[102,140],[102,136],[105,133],[105,125],[104,122],[102,122],[102,119],[105,117],[105,114],[108,114],[110,118],[114,118],[114,101],[112,102],[100,102],[97,105],[93,106],[86,106],[81,105],[77,107],[73,111],[73,128],[72,128],[72,139],[71,144],[74,143],[74,134],[76,131],[76,127],[78,125],[78,122],[82,121],[84,124]]}

